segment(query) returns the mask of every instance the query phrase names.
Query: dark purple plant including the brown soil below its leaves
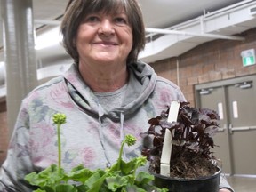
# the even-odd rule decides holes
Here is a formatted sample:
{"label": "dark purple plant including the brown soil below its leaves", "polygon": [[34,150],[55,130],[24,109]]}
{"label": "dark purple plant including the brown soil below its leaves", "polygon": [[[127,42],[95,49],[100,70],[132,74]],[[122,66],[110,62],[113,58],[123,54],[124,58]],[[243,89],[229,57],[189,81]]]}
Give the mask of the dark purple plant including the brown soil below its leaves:
{"label": "dark purple plant including the brown soil below its leaves", "polygon": [[192,108],[188,102],[181,102],[176,122],[167,122],[170,108],[161,116],[149,119],[147,132],[143,137],[153,139],[152,146],[143,148],[142,155],[150,162],[149,170],[160,173],[160,160],[164,144],[164,133],[172,133],[172,156],[170,176],[196,178],[212,175],[219,170],[217,160],[211,151],[215,147],[213,136],[220,125],[219,115],[209,108]]}

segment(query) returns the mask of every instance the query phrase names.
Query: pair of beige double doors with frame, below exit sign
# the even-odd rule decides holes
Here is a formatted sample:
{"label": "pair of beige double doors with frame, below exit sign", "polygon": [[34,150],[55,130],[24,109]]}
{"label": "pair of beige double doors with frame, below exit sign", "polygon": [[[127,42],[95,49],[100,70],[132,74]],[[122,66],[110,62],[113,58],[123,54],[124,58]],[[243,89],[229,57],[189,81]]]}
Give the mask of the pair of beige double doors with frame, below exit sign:
{"label": "pair of beige double doors with frame, below exit sign", "polygon": [[220,115],[214,136],[215,156],[223,171],[256,175],[256,83],[255,76],[196,85],[196,107],[212,108]]}

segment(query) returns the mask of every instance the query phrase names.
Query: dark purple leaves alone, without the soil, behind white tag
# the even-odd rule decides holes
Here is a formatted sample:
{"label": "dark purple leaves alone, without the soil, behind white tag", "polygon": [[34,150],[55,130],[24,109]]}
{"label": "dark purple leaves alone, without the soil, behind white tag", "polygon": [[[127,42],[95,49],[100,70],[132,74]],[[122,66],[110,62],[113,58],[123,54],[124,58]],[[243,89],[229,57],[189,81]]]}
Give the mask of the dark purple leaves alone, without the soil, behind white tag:
{"label": "dark purple leaves alone, without the soil, behind white tag", "polygon": [[177,122],[167,122],[169,108],[163,111],[161,116],[149,119],[148,132],[141,133],[141,136],[149,136],[153,139],[152,146],[142,150],[142,155],[147,156],[151,167],[158,169],[160,166],[166,129],[172,133],[172,148],[175,146],[176,153],[189,150],[207,159],[213,158],[211,148],[214,148],[215,145],[212,137],[220,127],[218,124],[220,116],[209,108],[192,108],[188,104],[188,102],[180,103]]}

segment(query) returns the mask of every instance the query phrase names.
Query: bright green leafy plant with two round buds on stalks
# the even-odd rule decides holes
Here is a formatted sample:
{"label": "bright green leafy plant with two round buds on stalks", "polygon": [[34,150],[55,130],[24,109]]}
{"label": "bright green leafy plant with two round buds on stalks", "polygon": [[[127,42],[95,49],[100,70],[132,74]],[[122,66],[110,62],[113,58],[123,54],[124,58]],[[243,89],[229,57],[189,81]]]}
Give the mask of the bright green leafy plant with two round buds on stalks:
{"label": "bright green leafy plant with two round buds on stalks", "polygon": [[140,166],[146,164],[146,157],[139,156],[129,162],[122,159],[124,144],[132,146],[136,142],[132,135],[125,136],[116,164],[111,167],[92,171],[80,164],[70,172],[65,172],[60,164],[60,125],[66,123],[66,116],[55,114],[53,123],[57,124],[59,163],[50,165],[42,172],[31,172],[25,177],[30,185],[38,187],[35,192],[167,191],[153,186],[151,183],[154,177],[148,172],[136,173]]}

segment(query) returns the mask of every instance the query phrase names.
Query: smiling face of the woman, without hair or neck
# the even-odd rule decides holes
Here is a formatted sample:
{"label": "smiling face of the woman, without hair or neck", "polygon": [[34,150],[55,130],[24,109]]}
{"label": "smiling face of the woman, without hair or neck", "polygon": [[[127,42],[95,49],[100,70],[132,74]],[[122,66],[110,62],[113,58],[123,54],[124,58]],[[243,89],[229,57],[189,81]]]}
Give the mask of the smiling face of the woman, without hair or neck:
{"label": "smiling face of the woman, without hair or neck", "polygon": [[132,50],[132,28],[124,12],[92,13],[80,24],[76,36],[80,62],[126,63]]}

